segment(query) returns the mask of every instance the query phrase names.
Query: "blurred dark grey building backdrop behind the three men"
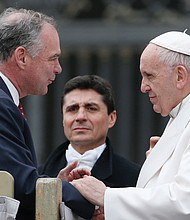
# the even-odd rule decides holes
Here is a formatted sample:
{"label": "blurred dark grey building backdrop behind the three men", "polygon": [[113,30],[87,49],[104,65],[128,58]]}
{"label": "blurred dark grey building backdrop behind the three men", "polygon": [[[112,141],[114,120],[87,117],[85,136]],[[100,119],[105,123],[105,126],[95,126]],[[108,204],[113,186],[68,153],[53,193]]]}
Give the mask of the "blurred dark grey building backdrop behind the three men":
{"label": "blurred dark grey building backdrop behind the three men", "polygon": [[168,118],[154,113],[148,96],[140,92],[140,54],[153,37],[190,28],[190,1],[1,0],[0,11],[6,7],[42,11],[59,26],[63,72],[47,95],[23,99],[39,163],[65,140],[60,109],[65,82],[97,74],[115,91],[118,120],[109,133],[113,147],[141,164],[150,136],[161,135]]}

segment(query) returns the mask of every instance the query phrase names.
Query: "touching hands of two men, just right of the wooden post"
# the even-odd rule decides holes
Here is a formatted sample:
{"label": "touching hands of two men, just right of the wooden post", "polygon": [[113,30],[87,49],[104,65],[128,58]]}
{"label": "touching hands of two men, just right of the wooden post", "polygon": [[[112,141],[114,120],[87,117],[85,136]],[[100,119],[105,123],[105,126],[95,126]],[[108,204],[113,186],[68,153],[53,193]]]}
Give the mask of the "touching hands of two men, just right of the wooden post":
{"label": "touching hands of two men, just right of the wooden post", "polygon": [[58,178],[70,182],[87,200],[99,206],[95,210],[92,220],[104,219],[104,194],[106,186],[103,182],[91,176],[91,172],[85,168],[77,168],[75,161],[60,170]]}

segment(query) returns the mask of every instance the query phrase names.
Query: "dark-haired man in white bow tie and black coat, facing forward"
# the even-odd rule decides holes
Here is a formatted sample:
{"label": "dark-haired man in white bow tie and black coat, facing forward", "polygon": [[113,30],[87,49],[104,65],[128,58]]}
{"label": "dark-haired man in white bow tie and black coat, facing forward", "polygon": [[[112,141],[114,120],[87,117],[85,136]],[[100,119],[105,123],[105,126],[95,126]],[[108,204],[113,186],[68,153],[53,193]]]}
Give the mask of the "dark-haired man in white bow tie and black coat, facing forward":
{"label": "dark-haired man in white bow tie and black coat, facing forward", "polygon": [[55,177],[73,161],[109,187],[135,186],[139,166],[115,154],[108,135],[116,122],[115,101],[108,81],[96,75],[69,80],[61,99],[63,127],[69,141],[47,159],[41,172]]}

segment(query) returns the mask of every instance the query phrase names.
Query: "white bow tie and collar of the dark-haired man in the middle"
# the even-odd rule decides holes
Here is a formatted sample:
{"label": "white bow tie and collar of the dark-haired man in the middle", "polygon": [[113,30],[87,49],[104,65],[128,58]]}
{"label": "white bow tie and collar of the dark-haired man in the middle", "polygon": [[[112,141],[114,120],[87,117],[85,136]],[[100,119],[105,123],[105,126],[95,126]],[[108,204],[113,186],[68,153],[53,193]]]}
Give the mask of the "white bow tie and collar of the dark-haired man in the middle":
{"label": "white bow tie and collar of the dark-haired man in the middle", "polygon": [[77,160],[78,167],[83,167],[91,170],[94,164],[96,163],[97,159],[104,151],[105,147],[106,144],[104,143],[93,150],[88,150],[84,154],[80,154],[71,146],[71,144],[69,144],[68,150],[66,150],[65,154],[67,163],[70,164]]}

